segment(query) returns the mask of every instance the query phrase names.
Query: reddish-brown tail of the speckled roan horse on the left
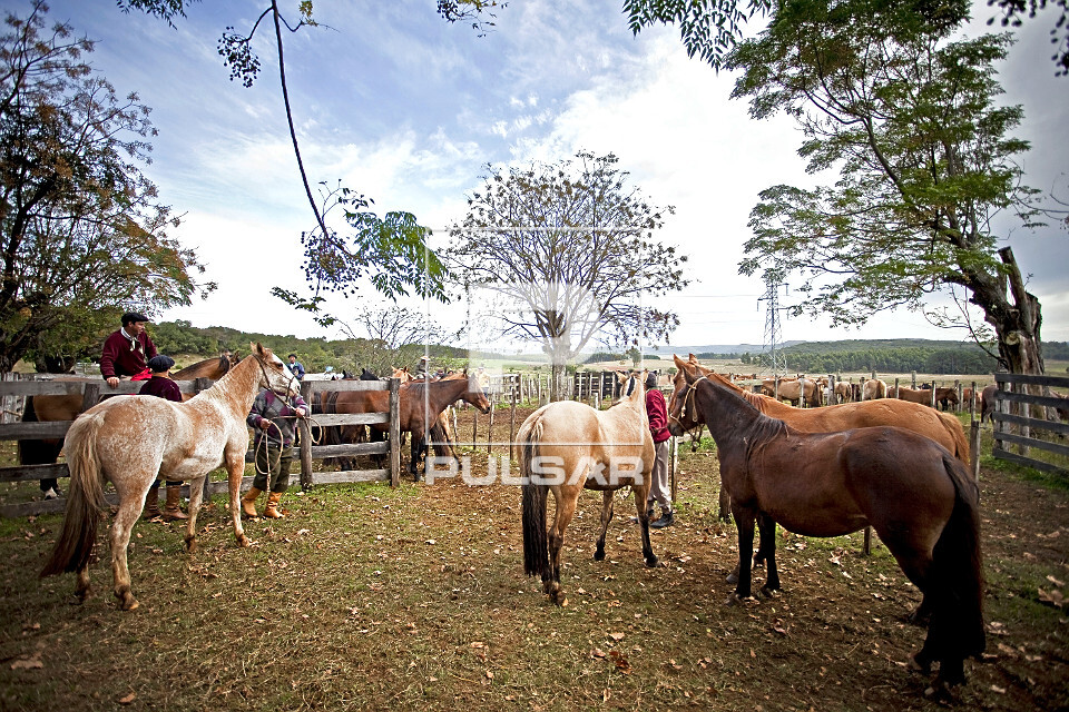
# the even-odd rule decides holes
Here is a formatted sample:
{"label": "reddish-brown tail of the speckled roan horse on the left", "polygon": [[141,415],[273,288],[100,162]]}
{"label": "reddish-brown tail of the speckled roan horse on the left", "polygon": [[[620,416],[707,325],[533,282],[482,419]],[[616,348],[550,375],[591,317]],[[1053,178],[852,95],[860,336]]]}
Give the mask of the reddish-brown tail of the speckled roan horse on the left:
{"label": "reddish-brown tail of the speckled roan horse on the left", "polygon": [[70,484],[63,527],[41,576],[81,571],[89,565],[97,541],[97,524],[107,502],[104,500],[104,476],[97,453],[97,432],[104,424],[100,414],[82,415],[67,432],[67,467]]}

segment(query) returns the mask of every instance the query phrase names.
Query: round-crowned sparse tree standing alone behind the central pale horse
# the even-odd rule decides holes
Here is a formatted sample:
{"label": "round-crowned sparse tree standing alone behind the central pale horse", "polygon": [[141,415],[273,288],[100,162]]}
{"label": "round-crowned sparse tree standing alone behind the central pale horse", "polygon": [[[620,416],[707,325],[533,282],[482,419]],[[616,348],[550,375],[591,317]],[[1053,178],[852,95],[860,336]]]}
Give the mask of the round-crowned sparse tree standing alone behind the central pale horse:
{"label": "round-crowned sparse tree standing alone behind the central pale horse", "polygon": [[541,345],[552,397],[565,365],[591,340],[667,339],[679,323],[641,299],[683,289],[686,257],[654,240],[663,210],[628,185],[617,162],[579,152],[528,169],[488,166],[467,217],[450,228],[454,278],[493,295],[498,303],[487,306],[503,335]]}

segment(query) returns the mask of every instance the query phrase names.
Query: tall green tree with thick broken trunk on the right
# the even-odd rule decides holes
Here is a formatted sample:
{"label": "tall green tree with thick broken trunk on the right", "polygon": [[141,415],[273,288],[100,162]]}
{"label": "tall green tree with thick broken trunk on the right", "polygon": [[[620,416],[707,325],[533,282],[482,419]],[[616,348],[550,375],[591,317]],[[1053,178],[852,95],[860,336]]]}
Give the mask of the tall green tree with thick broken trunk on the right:
{"label": "tall green tree with thick broken trunk on the right", "polygon": [[990,229],[1001,210],[1036,215],[1016,161],[1028,145],[1010,136],[1023,112],[996,103],[992,65],[1010,38],[949,41],[954,27],[886,0],[795,0],[733,50],[732,96],[754,118],[794,117],[808,170],[838,172],[833,186],[763,191],[739,271],[801,273],[796,312],[838,324],[963,289],[1007,368],[1042,373],[1039,300]]}

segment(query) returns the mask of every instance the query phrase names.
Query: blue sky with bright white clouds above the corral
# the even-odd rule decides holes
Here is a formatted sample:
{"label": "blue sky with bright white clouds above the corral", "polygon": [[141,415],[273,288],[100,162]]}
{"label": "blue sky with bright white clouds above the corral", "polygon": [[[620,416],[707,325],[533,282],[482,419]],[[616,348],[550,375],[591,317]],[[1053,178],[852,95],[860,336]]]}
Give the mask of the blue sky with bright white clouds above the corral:
{"label": "blue sky with bright white clouds above the corral", "polygon": [[[184,215],[174,235],[219,283],[207,300],[161,318],[336,337],[269,295],[273,286],[303,287],[298,238],[313,222],[271,47],[258,44],[263,72],[252,89],[229,81],[216,51],[224,28],[252,27],[266,3],[190,4],[175,28],[122,14],[114,0],[49,4],[52,20],[98,40],[88,59],[119,93],[136,91],[153,108],[159,136],[146,174],[163,201]],[[2,6],[24,14],[29,2]],[[659,237],[689,255],[694,281],[661,303],[683,322],[673,344],[761,344],[763,285],[738,276],[737,264],[758,191],[812,185],[795,154],[801,135],[793,123],[751,120],[744,102],[728,99],[734,77],[689,60],[674,28],[632,37],[619,0],[512,0],[486,37],[447,24],[434,7],[433,0],[317,0],[316,18],[326,27],[286,37],[310,178],[341,179],[373,198],[380,214],[411,211],[441,244],[487,164],[529,166],[580,149],[611,151],[654,204],[676,208]],[[974,12],[983,20],[991,11],[981,3]],[[1028,182],[1066,197],[1069,79],[1053,77],[1052,24],[1050,11],[1027,22],[1001,77],[1006,101],[1024,105],[1018,134],[1032,142],[1022,158]],[[1042,303],[1048,340],[1069,339],[1067,238],[1058,227],[1018,228],[1009,237]],[[365,295],[328,309],[345,317],[374,306],[373,290]],[[433,310],[448,322],[463,309]],[[877,315],[851,330],[787,319],[782,334],[805,340],[962,336],[909,313]]]}

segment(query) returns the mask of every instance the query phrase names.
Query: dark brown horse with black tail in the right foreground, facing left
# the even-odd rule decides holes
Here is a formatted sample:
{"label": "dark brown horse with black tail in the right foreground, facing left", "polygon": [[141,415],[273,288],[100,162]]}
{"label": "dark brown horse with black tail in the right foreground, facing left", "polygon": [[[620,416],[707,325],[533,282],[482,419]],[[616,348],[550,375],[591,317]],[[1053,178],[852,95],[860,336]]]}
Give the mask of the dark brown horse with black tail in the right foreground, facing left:
{"label": "dark brown horse with black tail in the right foreground, facing left", "polygon": [[[912,664],[933,688],[964,682],[963,661],[984,650],[980,491],[947,448],[900,427],[802,433],[771,418],[728,386],[685,370],[669,413],[679,435],[705,423],[738,530],[738,584],[751,596],[754,524],[767,557],[763,591],[779,589],[775,525],[804,536],[842,536],[871,525],[931,605],[928,636]],[[843,406],[840,406],[843,407]]]}

